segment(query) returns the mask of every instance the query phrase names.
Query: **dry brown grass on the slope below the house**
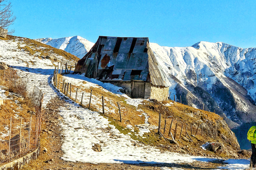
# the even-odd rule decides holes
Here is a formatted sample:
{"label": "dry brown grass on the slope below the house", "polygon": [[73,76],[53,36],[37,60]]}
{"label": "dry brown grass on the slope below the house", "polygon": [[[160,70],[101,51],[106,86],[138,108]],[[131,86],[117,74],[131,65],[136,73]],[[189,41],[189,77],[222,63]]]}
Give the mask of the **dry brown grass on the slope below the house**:
{"label": "dry brown grass on the slope below the house", "polygon": [[[62,83],[63,83],[63,76],[58,74],[58,80],[61,79],[60,86],[58,84],[57,87],[60,87],[60,90],[62,89]],[[58,81],[59,83],[59,81]],[[84,81],[83,84],[86,84]],[[183,105],[177,102],[174,102],[172,100],[158,102],[158,101],[143,101],[142,105],[139,105],[138,108],[126,104],[125,98],[122,96],[118,96],[115,94],[112,94],[111,92],[108,92],[106,90],[103,90],[102,87],[94,87],[94,88],[84,88],[83,86],[77,87],[72,85],[71,91],[75,92],[76,88],[81,89],[84,92],[90,93],[91,89],[93,89],[93,95],[98,96],[99,99],[101,99],[101,96],[104,96],[105,98],[108,98],[112,101],[112,103],[115,104],[115,106],[110,105],[109,101],[105,101],[105,106],[109,108],[115,109],[115,114],[108,114],[105,112],[105,114],[101,113],[101,103],[98,104],[98,106],[92,106],[92,111],[100,112],[102,116],[105,116],[110,121],[110,124],[115,125],[115,127],[124,134],[131,133],[131,138],[134,140],[138,140],[142,143],[145,143],[146,145],[150,146],[158,146],[161,149],[167,149],[172,151],[178,151],[178,152],[184,152],[184,150],[180,150],[179,148],[170,148],[169,141],[165,141],[164,138],[162,138],[161,135],[157,133],[157,130],[151,130],[150,133],[145,133],[143,137],[140,137],[137,132],[139,131],[138,128],[135,125],[144,124],[145,117],[138,116],[141,115],[140,112],[137,111],[137,109],[142,109],[143,112],[147,113],[148,116],[148,122],[151,125],[158,126],[158,117],[159,113],[161,113],[162,121],[161,121],[161,133],[164,134],[165,138],[171,139],[171,136],[169,136],[169,129],[172,123],[172,129],[171,132],[174,136],[175,131],[175,125],[178,123],[177,126],[177,133],[176,133],[176,141],[179,143],[180,146],[185,146],[186,153],[190,155],[202,155],[202,156],[218,156],[215,155],[214,152],[211,151],[204,151],[199,146],[203,145],[205,142],[217,142],[221,141],[220,134],[227,134],[227,130],[223,129],[221,126],[216,128],[219,130],[218,135],[212,135],[208,134],[206,130],[202,133],[202,126],[198,129],[197,135],[195,135],[196,130],[198,128],[198,125],[201,123],[205,123],[204,128],[208,128],[208,125],[212,125],[212,127],[217,127],[217,122],[222,121],[222,118],[214,113],[202,111],[201,109],[196,109],[187,105]],[[69,94],[69,92],[68,92]],[[69,95],[68,95],[69,97]],[[71,99],[74,99],[75,96],[72,96]],[[116,102],[119,102],[121,105],[121,112],[122,112],[122,122],[120,122],[118,107]],[[80,101],[77,101],[79,103]],[[173,103],[171,106],[165,106],[167,103]],[[88,104],[84,104],[83,107],[88,108]],[[165,125],[165,133],[164,133],[164,123],[166,120]],[[126,125],[130,124],[134,128],[134,132],[131,132],[129,129],[126,128]],[[181,127],[183,124],[182,133]],[[192,133],[191,135],[191,126],[192,126]],[[186,141],[183,138],[187,136],[187,139],[189,139],[188,135],[186,135],[186,126],[187,126],[187,133],[190,135],[191,139],[193,141]],[[217,131],[217,130],[216,130]],[[180,136],[181,134],[181,136]],[[146,137],[146,138],[145,138]],[[164,147],[163,147],[164,146]],[[223,154],[222,157],[230,157],[228,154]]]}

